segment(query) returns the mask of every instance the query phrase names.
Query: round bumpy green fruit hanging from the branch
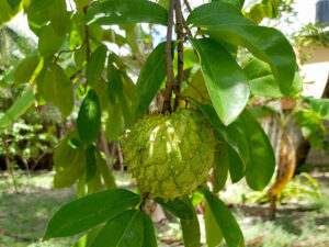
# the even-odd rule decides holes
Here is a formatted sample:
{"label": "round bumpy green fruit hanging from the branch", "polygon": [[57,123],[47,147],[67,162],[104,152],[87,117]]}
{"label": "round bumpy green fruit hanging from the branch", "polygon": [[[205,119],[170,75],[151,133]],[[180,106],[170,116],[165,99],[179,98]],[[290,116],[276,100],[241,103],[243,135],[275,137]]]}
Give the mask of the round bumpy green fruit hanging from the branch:
{"label": "round bumpy green fruit hanging from the branch", "polygon": [[124,141],[125,164],[150,198],[173,200],[206,182],[215,137],[196,110],[147,115]]}

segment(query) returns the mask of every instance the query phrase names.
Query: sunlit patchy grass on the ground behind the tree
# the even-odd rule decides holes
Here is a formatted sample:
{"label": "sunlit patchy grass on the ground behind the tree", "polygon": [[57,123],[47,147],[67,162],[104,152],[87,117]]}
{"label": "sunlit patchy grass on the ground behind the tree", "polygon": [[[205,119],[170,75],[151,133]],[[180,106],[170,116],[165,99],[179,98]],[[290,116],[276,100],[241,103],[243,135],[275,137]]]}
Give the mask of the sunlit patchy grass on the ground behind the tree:
{"label": "sunlit patchy grass on the ground behind the tree", "polygon": [[[42,242],[50,216],[76,198],[75,188],[52,190],[52,172],[36,172],[27,186],[26,176],[18,176],[20,194],[16,194],[9,184],[10,179],[0,175],[0,247],[65,247],[75,243],[77,237]],[[125,173],[118,178],[120,186],[132,186],[131,176]],[[317,179],[322,180],[320,191],[325,192],[304,197],[304,201],[283,201],[277,207],[276,221],[266,218],[266,204],[246,201],[250,191],[243,182],[228,186],[220,197],[232,204],[248,247],[328,247],[329,180],[327,177]],[[204,243],[202,217],[201,225]],[[178,221],[162,221],[156,228],[158,237],[167,239],[159,246],[182,246]]]}

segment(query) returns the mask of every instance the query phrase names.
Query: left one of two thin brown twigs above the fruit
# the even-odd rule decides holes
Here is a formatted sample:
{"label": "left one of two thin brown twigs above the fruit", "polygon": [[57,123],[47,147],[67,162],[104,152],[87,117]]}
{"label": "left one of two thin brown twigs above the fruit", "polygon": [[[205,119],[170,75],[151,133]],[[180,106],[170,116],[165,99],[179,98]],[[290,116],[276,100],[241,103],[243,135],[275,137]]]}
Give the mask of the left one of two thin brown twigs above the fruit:
{"label": "left one of two thin brown twigs above the fruit", "polygon": [[170,99],[171,99],[172,88],[173,88],[173,67],[172,67],[172,56],[171,56],[172,25],[173,25],[173,0],[169,0],[167,44],[166,44],[167,83],[166,83],[164,101],[162,108],[163,113],[167,111],[171,113]]}

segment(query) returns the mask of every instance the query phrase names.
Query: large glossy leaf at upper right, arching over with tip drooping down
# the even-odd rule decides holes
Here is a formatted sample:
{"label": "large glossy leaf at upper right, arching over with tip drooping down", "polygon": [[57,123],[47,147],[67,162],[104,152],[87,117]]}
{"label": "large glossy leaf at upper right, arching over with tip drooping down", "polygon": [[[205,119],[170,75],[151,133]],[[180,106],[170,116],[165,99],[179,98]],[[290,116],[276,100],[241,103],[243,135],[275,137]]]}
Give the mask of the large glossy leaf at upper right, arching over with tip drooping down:
{"label": "large glossy leaf at upper right, arching over with tip drooping down", "polygon": [[296,68],[295,53],[277,30],[258,26],[245,19],[237,8],[223,2],[203,4],[191,12],[188,23],[207,27],[212,38],[245,46],[268,63],[284,96],[290,96]]}

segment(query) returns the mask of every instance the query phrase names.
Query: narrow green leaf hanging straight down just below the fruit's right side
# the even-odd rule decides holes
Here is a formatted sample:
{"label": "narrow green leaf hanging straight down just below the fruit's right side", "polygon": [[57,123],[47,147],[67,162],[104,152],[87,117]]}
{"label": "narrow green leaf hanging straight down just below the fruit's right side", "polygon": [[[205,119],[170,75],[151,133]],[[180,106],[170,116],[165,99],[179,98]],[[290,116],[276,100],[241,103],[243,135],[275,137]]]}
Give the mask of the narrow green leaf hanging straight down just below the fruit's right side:
{"label": "narrow green leaf hanging straight down just below the fruit's right side", "polygon": [[193,218],[181,220],[184,246],[185,247],[198,247],[200,239],[201,239],[201,233],[200,233],[200,224],[198,224],[196,212],[195,212],[194,206],[188,195],[183,197],[182,201],[184,201],[190,206],[190,209],[193,211]]}

